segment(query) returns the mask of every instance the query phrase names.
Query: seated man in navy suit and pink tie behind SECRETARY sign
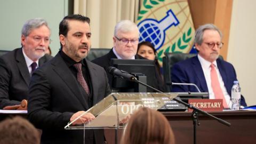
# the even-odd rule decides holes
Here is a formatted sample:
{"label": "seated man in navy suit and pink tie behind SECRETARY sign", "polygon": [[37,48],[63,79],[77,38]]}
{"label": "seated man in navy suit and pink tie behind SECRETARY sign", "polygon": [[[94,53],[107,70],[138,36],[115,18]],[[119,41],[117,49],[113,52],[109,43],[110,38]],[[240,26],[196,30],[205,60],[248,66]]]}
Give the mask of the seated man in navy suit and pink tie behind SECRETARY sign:
{"label": "seated man in navy suit and pink tie behind SECRETARY sign", "polygon": [[[209,92],[210,99],[223,99],[224,108],[231,108],[231,88],[237,81],[231,63],[219,59],[221,31],[212,24],[199,27],[195,34],[196,57],[176,63],[172,68],[172,82],[193,83],[201,92]],[[194,86],[173,85],[172,92],[198,92]],[[246,106],[241,97],[241,105]]]}

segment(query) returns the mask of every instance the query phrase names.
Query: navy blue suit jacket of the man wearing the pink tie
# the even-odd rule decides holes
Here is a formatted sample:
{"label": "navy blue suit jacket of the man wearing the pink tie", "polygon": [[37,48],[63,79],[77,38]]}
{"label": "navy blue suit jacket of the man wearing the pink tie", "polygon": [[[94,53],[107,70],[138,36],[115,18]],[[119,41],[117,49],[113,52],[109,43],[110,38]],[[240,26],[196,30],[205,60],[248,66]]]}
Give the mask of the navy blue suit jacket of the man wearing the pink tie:
{"label": "navy blue suit jacket of the man wearing the pink tie", "polygon": [[[236,71],[231,63],[217,59],[217,66],[224,85],[229,95],[233,82],[237,81]],[[198,57],[193,57],[185,61],[175,63],[171,72],[171,79],[174,83],[193,83],[196,84],[201,92],[208,92],[203,68]],[[172,92],[198,92],[195,86],[173,85]],[[241,105],[246,106],[244,98],[241,98]]]}

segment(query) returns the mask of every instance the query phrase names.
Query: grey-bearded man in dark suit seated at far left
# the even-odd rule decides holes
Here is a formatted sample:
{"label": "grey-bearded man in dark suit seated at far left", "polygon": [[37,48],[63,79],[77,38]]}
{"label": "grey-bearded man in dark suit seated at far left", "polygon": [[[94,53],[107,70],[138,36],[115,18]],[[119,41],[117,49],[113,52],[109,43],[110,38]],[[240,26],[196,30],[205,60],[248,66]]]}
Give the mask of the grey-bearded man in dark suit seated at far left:
{"label": "grey-bearded man in dark suit seated at far left", "polygon": [[0,109],[28,98],[31,73],[52,58],[45,55],[50,35],[45,20],[28,20],[21,31],[22,47],[0,57]]}

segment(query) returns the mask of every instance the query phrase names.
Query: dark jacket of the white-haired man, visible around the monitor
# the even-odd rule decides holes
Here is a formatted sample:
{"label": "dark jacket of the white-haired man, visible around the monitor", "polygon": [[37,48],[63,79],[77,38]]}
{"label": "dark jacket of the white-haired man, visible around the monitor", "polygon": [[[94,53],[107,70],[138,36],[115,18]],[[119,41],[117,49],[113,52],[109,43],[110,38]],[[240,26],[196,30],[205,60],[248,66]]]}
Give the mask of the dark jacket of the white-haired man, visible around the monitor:
{"label": "dark jacket of the white-haired man, visible around the monitor", "polygon": [[[111,51],[109,51],[109,53],[103,55],[102,57],[92,60],[92,62],[96,63],[97,65],[99,65],[99,66],[103,67],[105,70],[107,70],[107,68],[111,66],[111,63],[110,63],[111,59],[117,59],[115,53],[113,52],[113,49]],[[136,54],[135,59],[146,59],[146,58],[143,58],[140,55]],[[163,81],[161,81],[162,77],[157,73],[157,71],[155,71],[155,73],[156,73],[156,77],[155,77],[156,79],[155,79],[155,83],[154,83],[153,87],[155,87],[156,89],[158,89],[160,91],[166,91],[164,83],[163,83]],[[108,75],[109,85],[112,86],[114,76],[109,73],[107,73],[107,75]]]}

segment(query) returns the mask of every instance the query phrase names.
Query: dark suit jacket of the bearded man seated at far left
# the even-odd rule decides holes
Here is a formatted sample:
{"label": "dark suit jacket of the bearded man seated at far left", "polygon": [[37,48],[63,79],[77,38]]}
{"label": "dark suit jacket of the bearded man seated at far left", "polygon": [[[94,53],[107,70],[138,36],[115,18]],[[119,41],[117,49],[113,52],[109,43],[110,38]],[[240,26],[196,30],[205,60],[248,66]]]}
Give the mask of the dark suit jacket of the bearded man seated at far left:
{"label": "dark suit jacket of the bearded man seated at far left", "polygon": [[[39,67],[50,59],[52,59],[50,55],[39,59]],[[0,109],[19,105],[21,100],[28,99],[30,74],[22,48],[0,57],[0,71]]]}

